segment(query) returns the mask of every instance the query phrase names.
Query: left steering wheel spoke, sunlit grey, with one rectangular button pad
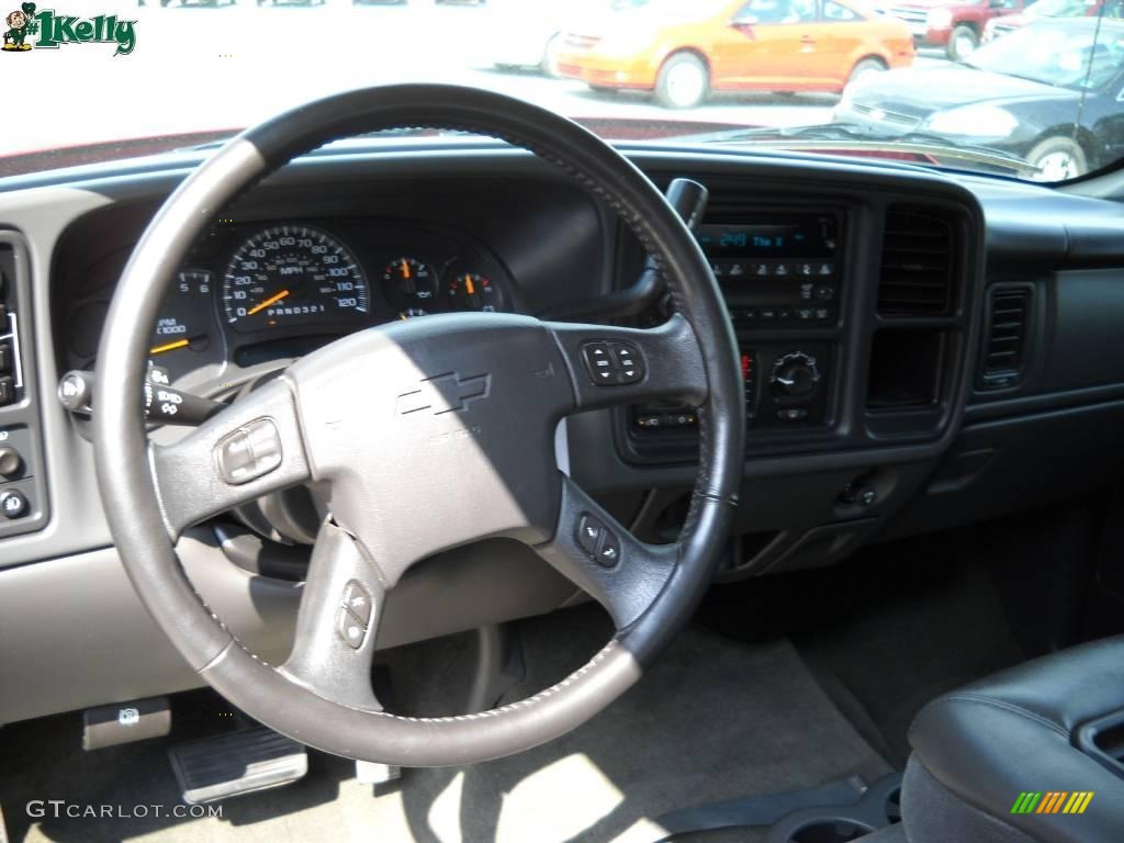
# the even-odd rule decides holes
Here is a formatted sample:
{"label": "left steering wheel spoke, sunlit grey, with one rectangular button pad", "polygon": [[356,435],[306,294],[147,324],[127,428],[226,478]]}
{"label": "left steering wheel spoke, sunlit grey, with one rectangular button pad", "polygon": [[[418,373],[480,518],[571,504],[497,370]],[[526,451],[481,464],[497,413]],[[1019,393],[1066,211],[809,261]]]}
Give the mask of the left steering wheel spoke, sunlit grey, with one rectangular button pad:
{"label": "left steering wheel spoke, sunlit grey, with one rectangular button pad", "polygon": [[192,524],[309,478],[284,378],[238,399],[173,444],[149,444],[148,463],[173,540]]}

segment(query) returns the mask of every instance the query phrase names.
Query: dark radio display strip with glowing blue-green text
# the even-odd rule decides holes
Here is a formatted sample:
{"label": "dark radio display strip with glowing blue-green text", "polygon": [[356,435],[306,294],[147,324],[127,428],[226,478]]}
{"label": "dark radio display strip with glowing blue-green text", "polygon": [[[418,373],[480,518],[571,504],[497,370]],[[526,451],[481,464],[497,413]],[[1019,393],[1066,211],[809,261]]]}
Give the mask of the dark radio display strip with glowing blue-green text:
{"label": "dark radio display strip with glowing blue-green text", "polygon": [[704,225],[699,245],[711,260],[833,257],[837,248],[834,216],[797,217],[736,225]]}

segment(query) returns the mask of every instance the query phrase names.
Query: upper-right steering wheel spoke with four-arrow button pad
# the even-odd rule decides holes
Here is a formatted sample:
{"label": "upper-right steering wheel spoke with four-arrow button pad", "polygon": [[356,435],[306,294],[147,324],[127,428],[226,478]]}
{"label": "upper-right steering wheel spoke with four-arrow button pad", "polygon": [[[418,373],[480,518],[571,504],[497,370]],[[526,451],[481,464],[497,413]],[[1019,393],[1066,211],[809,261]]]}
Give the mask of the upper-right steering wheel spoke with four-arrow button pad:
{"label": "upper-right steering wheel spoke with four-arrow button pad", "polygon": [[577,409],[620,404],[707,398],[698,338],[680,315],[649,329],[544,323],[558,341],[573,379]]}

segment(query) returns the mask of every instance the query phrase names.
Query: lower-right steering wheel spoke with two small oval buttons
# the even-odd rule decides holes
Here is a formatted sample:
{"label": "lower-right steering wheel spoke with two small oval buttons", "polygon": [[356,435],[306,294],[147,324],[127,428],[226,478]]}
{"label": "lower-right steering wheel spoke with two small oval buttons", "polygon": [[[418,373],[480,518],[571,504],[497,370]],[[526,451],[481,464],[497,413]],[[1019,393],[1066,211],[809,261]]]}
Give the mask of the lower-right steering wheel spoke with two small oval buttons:
{"label": "lower-right steering wheel spoke with two small oval buttons", "polygon": [[566,478],[554,538],[535,549],[563,577],[631,626],[662,591],[678,546],[642,542]]}

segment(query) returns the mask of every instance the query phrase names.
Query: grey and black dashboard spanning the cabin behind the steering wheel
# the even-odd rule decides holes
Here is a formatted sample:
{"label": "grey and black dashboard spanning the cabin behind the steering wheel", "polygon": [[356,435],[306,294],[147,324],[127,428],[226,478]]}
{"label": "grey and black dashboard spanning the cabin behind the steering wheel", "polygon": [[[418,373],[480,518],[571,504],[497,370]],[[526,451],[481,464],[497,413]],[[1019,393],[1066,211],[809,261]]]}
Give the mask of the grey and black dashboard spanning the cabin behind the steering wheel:
{"label": "grey and black dashboard spanning the cabin behind the steering wheel", "polygon": [[[1124,472],[1120,203],[887,162],[623,151],[660,188],[689,178],[709,191],[696,236],[737,337],[747,423],[747,505],[719,579],[832,564]],[[121,269],[201,155],[0,182],[0,635],[18,653],[6,649],[0,670],[31,689],[0,700],[0,723],[198,683],[124,577],[89,423],[56,386],[97,369]],[[151,364],[225,400],[396,319],[493,310],[655,325],[673,305],[643,283],[645,261],[609,208],[528,154],[363,142],[305,156],[217,215],[170,279]],[[581,413],[560,427],[559,465],[637,536],[669,541],[697,473],[696,425],[695,408],[674,404]],[[293,506],[228,514],[178,549],[265,658],[291,642],[307,565],[285,533]],[[451,549],[395,590],[380,640],[575,599],[526,549]]]}

